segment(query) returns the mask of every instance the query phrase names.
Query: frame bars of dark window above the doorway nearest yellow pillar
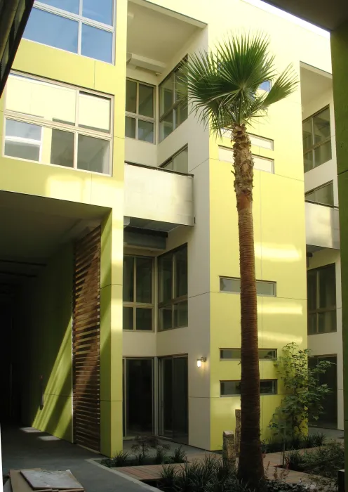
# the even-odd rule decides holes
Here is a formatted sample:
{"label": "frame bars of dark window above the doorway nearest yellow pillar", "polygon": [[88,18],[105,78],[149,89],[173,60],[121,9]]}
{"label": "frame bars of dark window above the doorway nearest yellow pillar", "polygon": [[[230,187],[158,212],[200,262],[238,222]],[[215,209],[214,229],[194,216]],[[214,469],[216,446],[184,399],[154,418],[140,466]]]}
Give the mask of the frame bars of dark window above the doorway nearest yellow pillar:
{"label": "frame bars of dark window above the doorway nearest yellow pillar", "polygon": [[[155,266],[154,266],[154,257],[148,257],[146,255],[142,254],[123,254],[123,259],[125,257],[131,257],[133,258],[133,299],[135,299],[133,302],[130,301],[123,301],[123,294],[122,294],[122,311],[123,308],[132,308],[133,309],[133,329],[130,328],[123,328],[123,319],[122,319],[122,331],[123,332],[138,332],[138,333],[153,333],[154,332],[154,327],[155,327],[155,319],[154,319],[154,313],[155,313]],[[152,302],[137,302],[136,300],[136,293],[137,293],[137,268],[136,268],[136,260],[137,258],[146,258],[150,259],[152,262]],[[151,309],[152,310],[152,329],[151,330],[137,330],[136,325],[137,325],[137,308],[142,308],[142,309]]]}

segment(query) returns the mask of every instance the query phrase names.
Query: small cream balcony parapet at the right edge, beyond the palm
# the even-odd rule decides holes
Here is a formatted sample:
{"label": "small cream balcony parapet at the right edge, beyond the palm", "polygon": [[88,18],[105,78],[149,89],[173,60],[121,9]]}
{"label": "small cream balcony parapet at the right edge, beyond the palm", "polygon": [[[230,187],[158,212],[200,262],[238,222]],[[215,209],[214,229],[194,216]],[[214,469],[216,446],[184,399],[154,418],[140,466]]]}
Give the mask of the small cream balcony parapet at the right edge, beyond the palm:
{"label": "small cream balcony parapet at the right edge, beyond the palm", "polygon": [[304,205],[306,214],[306,244],[312,247],[312,250],[324,247],[340,250],[338,209],[311,202],[306,202]]}

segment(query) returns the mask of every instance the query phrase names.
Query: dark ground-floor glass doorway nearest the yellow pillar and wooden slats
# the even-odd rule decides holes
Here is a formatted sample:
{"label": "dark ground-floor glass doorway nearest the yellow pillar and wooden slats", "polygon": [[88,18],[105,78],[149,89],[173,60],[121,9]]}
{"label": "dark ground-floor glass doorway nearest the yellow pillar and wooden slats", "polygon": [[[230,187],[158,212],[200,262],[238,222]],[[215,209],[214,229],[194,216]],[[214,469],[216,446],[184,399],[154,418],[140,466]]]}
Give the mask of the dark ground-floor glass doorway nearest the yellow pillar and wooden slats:
{"label": "dark ground-floor glass doorway nearest the yellow pillar and wooden slats", "polygon": [[123,436],[154,433],[154,361],[123,359]]}

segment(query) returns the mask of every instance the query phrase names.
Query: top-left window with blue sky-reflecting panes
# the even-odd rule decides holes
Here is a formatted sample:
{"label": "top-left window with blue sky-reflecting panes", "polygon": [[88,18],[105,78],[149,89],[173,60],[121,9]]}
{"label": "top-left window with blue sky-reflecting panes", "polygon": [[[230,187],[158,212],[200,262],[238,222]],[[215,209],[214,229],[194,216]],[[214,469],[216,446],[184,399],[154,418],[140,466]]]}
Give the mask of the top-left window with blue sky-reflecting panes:
{"label": "top-left window with blue sky-reflecting panes", "polygon": [[114,0],[36,0],[23,37],[112,63]]}

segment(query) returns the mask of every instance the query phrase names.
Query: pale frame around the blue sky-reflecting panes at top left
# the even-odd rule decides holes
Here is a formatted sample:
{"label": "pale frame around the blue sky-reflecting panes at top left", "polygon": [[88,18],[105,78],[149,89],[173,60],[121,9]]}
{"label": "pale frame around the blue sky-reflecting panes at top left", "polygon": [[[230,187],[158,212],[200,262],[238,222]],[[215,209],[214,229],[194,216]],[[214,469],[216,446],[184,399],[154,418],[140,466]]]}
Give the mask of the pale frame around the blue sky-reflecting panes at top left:
{"label": "pale frame around the blue sky-reflecting panes at top left", "polygon": [[[23,36],[23,39],[27,39],[27,41],[32,41],[33,43],[42,44],[44,46],[50,46],[54,49],[59,49],[61,51],[65,51],[66,53],[74,53],[75,55],[85,56],[86,58],[90,58],[91,60],[98,60],[102,63],[109,63],[109,65],[115,64],[115,25],[116,25],[116,1],[112,0],[112,25],[104,24],[103,22],[99,22],[98,20],[89,19],[88,17],[83,17],[82,15],[82,2],[83,0],[79,0],[79,14],[72,13],[69,11],[65,11],[62,8],[54,7],[48,4],[44,4],[39,0],[34,1],[33,9],[37,8],[41,11],[46,11],[48,13],[52,13],[54,15],[59,15],[60,17],[64,17],[70,20],[74,20],[78,23],[78,31],[77,31],[77,53],[74,51],[67,51],[63,48],[56,48],[55,46],[51,46],[51,44],[40,43],[39,41],[32,41],[32,39],[27,39]],[[82,25],[90,25],[91,27],[95,27],[102,31],[107,31],[112,33],[112,61],[106,62],[105,60],[100,60],[99,58],[92,58],[91,56],[82,55],[81,46],[82,46]]]}

